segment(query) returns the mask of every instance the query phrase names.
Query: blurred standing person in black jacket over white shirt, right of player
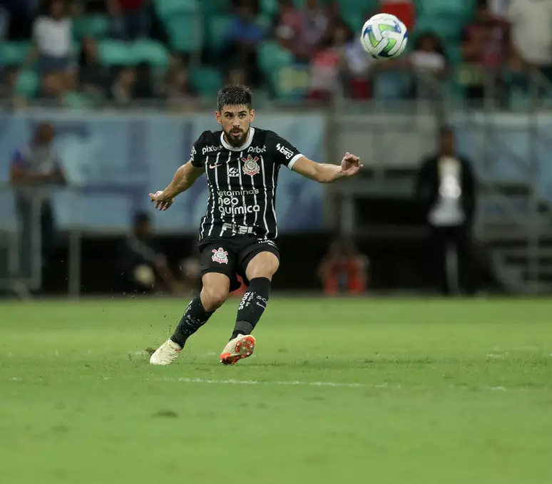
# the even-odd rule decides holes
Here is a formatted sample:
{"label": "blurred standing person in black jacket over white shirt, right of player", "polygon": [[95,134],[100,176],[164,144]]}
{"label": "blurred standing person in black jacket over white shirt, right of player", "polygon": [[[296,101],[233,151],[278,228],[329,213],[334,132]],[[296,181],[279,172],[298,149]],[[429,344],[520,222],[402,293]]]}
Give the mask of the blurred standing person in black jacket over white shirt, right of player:
{"label": "blurred standing person in black jacket over white shirt, right of player", "polygon": [[439,152],[422,161],[416,197],[429,225],[444,294],[474,294],[471,232],[476,178],[471,163],[456,155],[454,132],[440,131]]}

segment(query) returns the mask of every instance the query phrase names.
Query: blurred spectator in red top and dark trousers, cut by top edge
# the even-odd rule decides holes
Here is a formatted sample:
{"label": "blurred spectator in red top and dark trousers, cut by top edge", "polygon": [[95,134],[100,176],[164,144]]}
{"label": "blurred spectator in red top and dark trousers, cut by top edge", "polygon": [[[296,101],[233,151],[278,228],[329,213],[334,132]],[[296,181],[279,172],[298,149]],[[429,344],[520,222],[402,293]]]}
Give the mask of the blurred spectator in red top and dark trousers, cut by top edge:
{"label": "blurred spectator in red top and dark trousers, cut by top edge", "polygon": [[147,0],[107,0],[113,37],[131,41],[148,37],[151,29]]}

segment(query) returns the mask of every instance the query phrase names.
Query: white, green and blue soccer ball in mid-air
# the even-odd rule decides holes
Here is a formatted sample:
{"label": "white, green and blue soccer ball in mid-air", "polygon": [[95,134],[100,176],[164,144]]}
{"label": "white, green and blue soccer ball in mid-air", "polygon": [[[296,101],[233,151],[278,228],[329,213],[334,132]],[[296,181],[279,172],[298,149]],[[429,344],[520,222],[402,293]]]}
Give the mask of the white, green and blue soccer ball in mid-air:
{"label": "white, green and blue soccer ball in mid-air", "polygon": [[360,41],[373,58],[396,58],[407,47],[407,27],[394,15],[374,15],[362,27]]}

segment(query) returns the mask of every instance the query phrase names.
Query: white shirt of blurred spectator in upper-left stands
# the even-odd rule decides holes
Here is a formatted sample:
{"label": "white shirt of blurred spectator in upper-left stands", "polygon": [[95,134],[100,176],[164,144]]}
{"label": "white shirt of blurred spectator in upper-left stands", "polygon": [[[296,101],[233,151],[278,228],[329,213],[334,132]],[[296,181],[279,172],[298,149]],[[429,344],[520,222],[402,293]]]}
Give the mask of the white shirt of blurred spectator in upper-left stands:
{"label": "white shirt of blurred spectator in upper-left stands", "polygon": [[71,55],[72,24],[68,17],[60,20],[39,17],[34,22],[33,38],[39,53],[56,58]]}

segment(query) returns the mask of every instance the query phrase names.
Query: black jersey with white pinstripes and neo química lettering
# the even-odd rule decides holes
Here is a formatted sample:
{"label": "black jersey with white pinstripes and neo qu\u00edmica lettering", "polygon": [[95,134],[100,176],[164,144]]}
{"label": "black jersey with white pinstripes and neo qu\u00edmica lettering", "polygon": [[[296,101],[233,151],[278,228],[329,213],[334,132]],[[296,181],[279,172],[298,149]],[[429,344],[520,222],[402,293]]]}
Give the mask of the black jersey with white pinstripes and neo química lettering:
{"label": "black jersey with white pinstripes and neo qu\u00edmica lettering", "polygon": [[273,131],[250,128],[245,145],[226,143],[223,131],[205,131],[192,147],[190,161],[203,168],[209,185],[200,240],[255,234],[278,237],[278,170],[290,170],[302,154]]}

